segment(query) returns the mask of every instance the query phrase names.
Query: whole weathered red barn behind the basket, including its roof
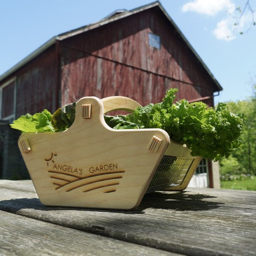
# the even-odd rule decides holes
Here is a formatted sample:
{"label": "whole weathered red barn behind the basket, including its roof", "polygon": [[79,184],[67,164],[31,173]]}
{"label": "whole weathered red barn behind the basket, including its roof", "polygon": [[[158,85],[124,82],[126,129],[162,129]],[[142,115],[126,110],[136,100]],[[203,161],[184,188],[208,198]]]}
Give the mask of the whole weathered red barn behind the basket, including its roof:
{"label": "whole weathered red barn behind the basket, including its roof", "polygon": [[[116,11],[51,38],[0,76],[0,175],[27,177],[18,132],[8,123],[26,113],[54,112],[83,96],[127,96],[146,105],[178,88],[177,100],[214,106],[218,81],[157,1]],[[214,186],[211,161],[205,164]]]}

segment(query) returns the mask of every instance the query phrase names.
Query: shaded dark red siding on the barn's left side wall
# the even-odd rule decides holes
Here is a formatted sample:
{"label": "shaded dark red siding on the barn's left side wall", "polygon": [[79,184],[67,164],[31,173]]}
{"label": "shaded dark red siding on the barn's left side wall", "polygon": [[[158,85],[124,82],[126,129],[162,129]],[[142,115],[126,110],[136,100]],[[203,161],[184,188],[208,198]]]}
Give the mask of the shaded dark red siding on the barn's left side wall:
{"label": "shaded dark red siding on the barn's left side wall", "polygon": [[17,75],[17,116],[56,110],[57,60],[51,49]]}

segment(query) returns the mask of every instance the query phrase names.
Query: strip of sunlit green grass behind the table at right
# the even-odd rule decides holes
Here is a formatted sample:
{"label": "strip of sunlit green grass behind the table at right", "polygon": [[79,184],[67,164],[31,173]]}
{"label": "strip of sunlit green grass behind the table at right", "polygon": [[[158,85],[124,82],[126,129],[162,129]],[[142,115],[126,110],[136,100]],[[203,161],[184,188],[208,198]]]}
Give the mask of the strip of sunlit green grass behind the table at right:
{"label": "strip of sunlit green grass behind the table at right", "polygon": [[256,176],[245,177],[241,180],[220,181],[222,189],[256,190]]}

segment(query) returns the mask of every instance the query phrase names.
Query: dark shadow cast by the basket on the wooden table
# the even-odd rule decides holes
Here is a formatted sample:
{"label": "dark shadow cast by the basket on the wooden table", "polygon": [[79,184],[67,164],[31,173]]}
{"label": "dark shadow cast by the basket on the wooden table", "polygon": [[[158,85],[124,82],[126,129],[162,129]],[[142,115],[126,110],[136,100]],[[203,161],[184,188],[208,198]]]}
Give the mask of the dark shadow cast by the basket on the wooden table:
{"label": "dark shadow cast by the basket on the wooden table", "polygon": [[176,192],[151,192],[145,194],[140,205],[133,210],[111,210],[75,207],[54,207],[43,205],[38,198],[17,198],[0,201],[0,210],[16,213],[22,209],[34,209],[40,211],[76,210],[76,211],[104,211],[121,212],[124,214],[144,214],[145,209],[165,209],[175,211],[207,211],[218,208],[220,202],[212,202],[207,199],[216,198],[206,194],[188,194],[186,191]]}

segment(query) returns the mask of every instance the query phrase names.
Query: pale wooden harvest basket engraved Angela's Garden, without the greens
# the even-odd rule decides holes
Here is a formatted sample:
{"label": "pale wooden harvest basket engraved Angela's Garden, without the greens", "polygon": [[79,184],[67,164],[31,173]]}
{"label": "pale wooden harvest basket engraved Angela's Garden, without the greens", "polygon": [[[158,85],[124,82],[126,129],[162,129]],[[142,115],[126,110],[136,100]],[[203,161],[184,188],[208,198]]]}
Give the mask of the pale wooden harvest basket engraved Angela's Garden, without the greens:
{"label": "pale wooden harvest basket engraved Angela's Garden, without the greens", "polygon": [[110,128],[104,113],[140,106],[126,97],[84,97],[63,132],[18,140],[40,201],[47,206],[132,209],[151,191],[187,187],[200,157],[162,129]]}

